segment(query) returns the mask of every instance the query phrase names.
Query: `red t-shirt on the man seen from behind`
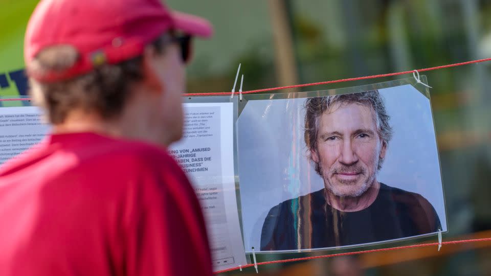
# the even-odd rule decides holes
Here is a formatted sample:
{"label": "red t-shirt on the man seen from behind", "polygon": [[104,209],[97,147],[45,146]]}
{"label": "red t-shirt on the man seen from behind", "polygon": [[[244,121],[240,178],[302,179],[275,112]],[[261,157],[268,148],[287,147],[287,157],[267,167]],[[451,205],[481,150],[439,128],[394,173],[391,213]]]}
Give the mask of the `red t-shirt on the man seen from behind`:
{"label": "red t-shirt on the man seen from behind", "polygon": [[212,275],[205,223],[164,149],[56,134],[0,167],[0,275]]}

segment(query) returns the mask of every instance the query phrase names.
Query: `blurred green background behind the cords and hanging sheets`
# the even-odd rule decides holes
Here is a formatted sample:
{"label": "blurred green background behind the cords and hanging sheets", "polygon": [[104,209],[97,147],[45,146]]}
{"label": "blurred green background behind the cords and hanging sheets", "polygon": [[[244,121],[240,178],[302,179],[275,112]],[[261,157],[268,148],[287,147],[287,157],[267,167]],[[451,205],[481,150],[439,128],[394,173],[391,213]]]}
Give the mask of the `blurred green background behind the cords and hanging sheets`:
{"label": "blurred green background behind the cords and hanging sheets", "polygon": [[[101,0],[103,1],[103,0]],[[0,0],[2,74],[21,70],[22,32],[37,1]],[[230,91],[239,63],[244,90],[385,74],[491,57],[491,0],[168,0],[208,18],[196,40],[188,91]],[[8,8],[4,8],[8,7]],[[426,72],[431,89],[449,233],[491,237],[491,62]],[[407,78],[399,76],[397,78]],[[381,78],[297,91],[382,82]],[[292,91],[292,90],[289,90]],[[295,90],[294,90],[295,91]],[[281,93],[281,91],[279,91]],[[415,242],[435,242],[436,237]],[[380,246],[379,246],[380,247]],[[378,247],[364,247],[371,249]],[[354,249],[350,249],[351,251]],[[344,251],[350,251],[344,250]],[[260,255],[258,261],[343,252]],[[491,243],[444,245],[259,267],[262,275],[491,275]],[[228,275],[256,274],[253,268]]]}

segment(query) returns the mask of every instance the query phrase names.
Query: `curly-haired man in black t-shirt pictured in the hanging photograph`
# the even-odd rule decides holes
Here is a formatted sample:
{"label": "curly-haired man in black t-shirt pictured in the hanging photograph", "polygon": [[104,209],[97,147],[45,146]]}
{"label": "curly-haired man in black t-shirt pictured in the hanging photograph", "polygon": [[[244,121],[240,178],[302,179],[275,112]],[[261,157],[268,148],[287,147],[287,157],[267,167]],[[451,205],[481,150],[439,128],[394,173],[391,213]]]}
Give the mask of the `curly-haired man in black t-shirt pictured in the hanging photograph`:
{"label": "curly-haired man in black t-shirt pictured in the hanging photograph", "polygon": [[393,134],[378,90],[308,98],[304,108],[307,155],[324,188],[271,208],[262,224],[261,251],[438,232],[440,219],[425,197],[377,180]]}

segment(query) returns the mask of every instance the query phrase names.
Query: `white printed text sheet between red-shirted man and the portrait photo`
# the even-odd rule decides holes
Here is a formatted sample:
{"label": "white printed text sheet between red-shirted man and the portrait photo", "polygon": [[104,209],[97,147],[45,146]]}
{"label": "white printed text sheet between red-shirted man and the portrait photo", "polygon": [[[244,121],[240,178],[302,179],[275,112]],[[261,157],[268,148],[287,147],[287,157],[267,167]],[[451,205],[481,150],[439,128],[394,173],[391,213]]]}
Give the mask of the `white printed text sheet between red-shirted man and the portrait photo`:
{"label": "white printed text sheet between red-shirted man and the portrait photo", "polygon": [[213,269],[245,265],[235,196],[233,103],[185,103],[184,110],[184,136],[170,154],[202,205]]}

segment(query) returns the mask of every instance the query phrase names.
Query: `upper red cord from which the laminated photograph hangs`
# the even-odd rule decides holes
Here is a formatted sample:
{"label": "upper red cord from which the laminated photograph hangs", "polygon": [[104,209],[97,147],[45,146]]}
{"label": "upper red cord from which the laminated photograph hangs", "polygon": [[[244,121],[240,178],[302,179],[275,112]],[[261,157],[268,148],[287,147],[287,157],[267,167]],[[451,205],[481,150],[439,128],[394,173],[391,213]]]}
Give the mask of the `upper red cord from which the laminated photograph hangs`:
{"label": "upper red cord from which the laminated photograph hangs", "polygon": [[[454,63],[454,64],[447,64],[447,65],[442,65],[442,66],[436,66],[436,67],[419,69],[418,72],[425,72],[425,71],[437,70],[437,69],[442,69],[442,68],[467,65],[467,64],[479,63],[479,62],[490,61],[490,60],[491,60],[491,58],[484,58],[484,59],[478,59],[478,60],[472,60],[472,61],[466,61],[466,62],[460,62],[460,63]],[[413,73],[413,72],[414,72],[414,70],[412,70],[412,71],[405,71],[405,72],[396,72],[396,73],[382,74],[382,75],[373,75],[373,76],[366,76],[366,77],[358,77],[358,78],[349,78],[349,79],[341,79],[341,80],[322,81],[322,82],[304,83],[304,84],[281,86],[281,87],[256,89],[256,90],[242,91],[242,94],[259,93],[259,92],[273,91],[273,90],[286,89],[286,88],[314,86],[314,85],[337,83],[337,82],[346,82],[346,81],[367,80],[367,79],[391,77],[391,76],[398,76],[398,75],[409,74],[409,73]],[[225,96],[225,95],[232,95],[232,92],[187,93],[187,94],[183,94],[183,96],[185,96],[185,97],[191,97],[191,96]],[[3,101],[30,101],[30,100],[31,99],[29,99],[29,98],[25,98],[25,99],[0,99],[0,102],[3,102]]]}

